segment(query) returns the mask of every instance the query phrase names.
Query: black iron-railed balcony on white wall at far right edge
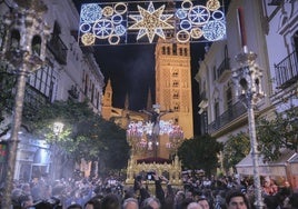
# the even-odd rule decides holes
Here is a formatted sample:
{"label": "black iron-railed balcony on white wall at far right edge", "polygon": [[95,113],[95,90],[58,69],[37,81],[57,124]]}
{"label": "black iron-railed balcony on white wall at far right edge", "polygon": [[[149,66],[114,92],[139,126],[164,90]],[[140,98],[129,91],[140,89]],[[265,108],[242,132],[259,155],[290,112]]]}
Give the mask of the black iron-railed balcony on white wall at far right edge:
{"label": "black iron-railed balcony on white wall at far right edge", "polygon": [[276,82],[278,89],[286,89],[298,79],[297,52],[294,51],[278,64],[275,64]]}

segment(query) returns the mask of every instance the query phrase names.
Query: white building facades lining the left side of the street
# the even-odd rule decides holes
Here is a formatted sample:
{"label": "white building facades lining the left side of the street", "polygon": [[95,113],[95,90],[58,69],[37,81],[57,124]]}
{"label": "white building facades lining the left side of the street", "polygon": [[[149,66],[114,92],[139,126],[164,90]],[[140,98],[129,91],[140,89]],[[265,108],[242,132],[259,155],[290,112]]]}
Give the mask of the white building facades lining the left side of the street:
{"label": "white building facades lining the left side of the street", "polygon": [[[47,64],[28,76],[24,103],[38,107],[39,103],[57,100],[71,99],[81,102],[88,99],[93,111],[100,113],[103,76],[92,49],[80,48],[77,42],[79,26],[77,8],[71,0],[44,0],[43,2],[48,7],[44,22],[51,33],[46,44]],[[16,6],[14,1],[1,1],[1,16],[9,13]],[[22,36],[22,32],[30,31],[23,27],[22,31],[17,32]],[[1,32],[1,34],[6,33]],[[0,37],[0,44],[3,44],[4,38]],[[10,117],[7,121],[10,121]],[[6,141],[9,138],[8,133],[1,140]],[[41,173],[49,173],[52,158],[44,139],[32,136],[23,129],[19,138],[14,179],[31,180],[40,177]],[[66,173],[69,175],[71,173]]]}

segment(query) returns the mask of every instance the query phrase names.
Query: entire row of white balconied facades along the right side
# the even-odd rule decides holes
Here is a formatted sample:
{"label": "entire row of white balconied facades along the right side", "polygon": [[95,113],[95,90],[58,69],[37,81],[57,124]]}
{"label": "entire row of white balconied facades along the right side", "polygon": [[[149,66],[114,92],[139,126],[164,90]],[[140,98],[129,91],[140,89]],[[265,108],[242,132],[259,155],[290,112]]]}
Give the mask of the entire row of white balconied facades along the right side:
{"label": "entire row of white balconied facades along the right side", "polygon": [[[240,68],[236,57],[244,51],[239,8],[244,11],[248,51],[257,54],[256,63],[262,73],[260,86],[265,97],[256,106],[256,119],[270,119],[276,110],[281,112],[297,107],[298,2],[234,0],[227,12],[227,39],[212,43],[196,76],[200,86],[201,131],[221,142],[226,142],[230,135],[249,131],[247,108],[236,96],[232,81],[232,71]],[[246,169],[251,170],[251,158],[249,161],[242,162],[240,175],[251,175]],[[295,167],[291,158],[290,161],[290,166]],[[289,161],[281,163],[284,171],[261,162],[260,175],[287,179],[292,187],[297,187],[294,181],[297,172],[292,172],[291,167],[285,167]]]}

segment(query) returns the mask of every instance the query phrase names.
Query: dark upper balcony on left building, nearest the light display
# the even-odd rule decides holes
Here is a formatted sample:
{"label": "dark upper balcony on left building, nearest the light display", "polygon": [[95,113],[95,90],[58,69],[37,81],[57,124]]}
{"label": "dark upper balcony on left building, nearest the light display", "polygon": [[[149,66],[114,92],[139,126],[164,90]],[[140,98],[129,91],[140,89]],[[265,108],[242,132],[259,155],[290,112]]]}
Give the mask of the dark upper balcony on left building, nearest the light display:
{"label": "dark upper balcony on left building, nearest the light display", "polygon": [[67,46],[63,43],[63,41],[60,39],[60,37],[52,38],[47,43],[48,49],[52,52],[54,59],[60,64],[67,64]]}

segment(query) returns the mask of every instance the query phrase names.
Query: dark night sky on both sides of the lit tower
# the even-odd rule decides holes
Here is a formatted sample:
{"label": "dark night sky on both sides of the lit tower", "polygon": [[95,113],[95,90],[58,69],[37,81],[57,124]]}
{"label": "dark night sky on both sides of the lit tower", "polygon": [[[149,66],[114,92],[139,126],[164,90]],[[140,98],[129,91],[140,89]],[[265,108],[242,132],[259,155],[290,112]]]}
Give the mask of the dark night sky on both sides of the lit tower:
{"label": "dark night sky on both sides of the lit tower", "polygon": [[[73,2],[77,6],[78,11],[80,11],[81,3],[111,1],[73,0]],[[119,1],[116,0],[113,2]],[[206,43],[191,43],[192,107],[195,126],[198,123],[199,117],[199,88],[193,78],[198,72],[198,61],[203,58],[205,46]],[[107,81],[108,79],[111,79],[113,107],[123,108],[125,98],[128,93],[130,110],[145,109],[147,106],[149,88],[151,89],[152,102],[155,102],[155,44],[97,46],[95,47],[95,51],[105,80]]]}

